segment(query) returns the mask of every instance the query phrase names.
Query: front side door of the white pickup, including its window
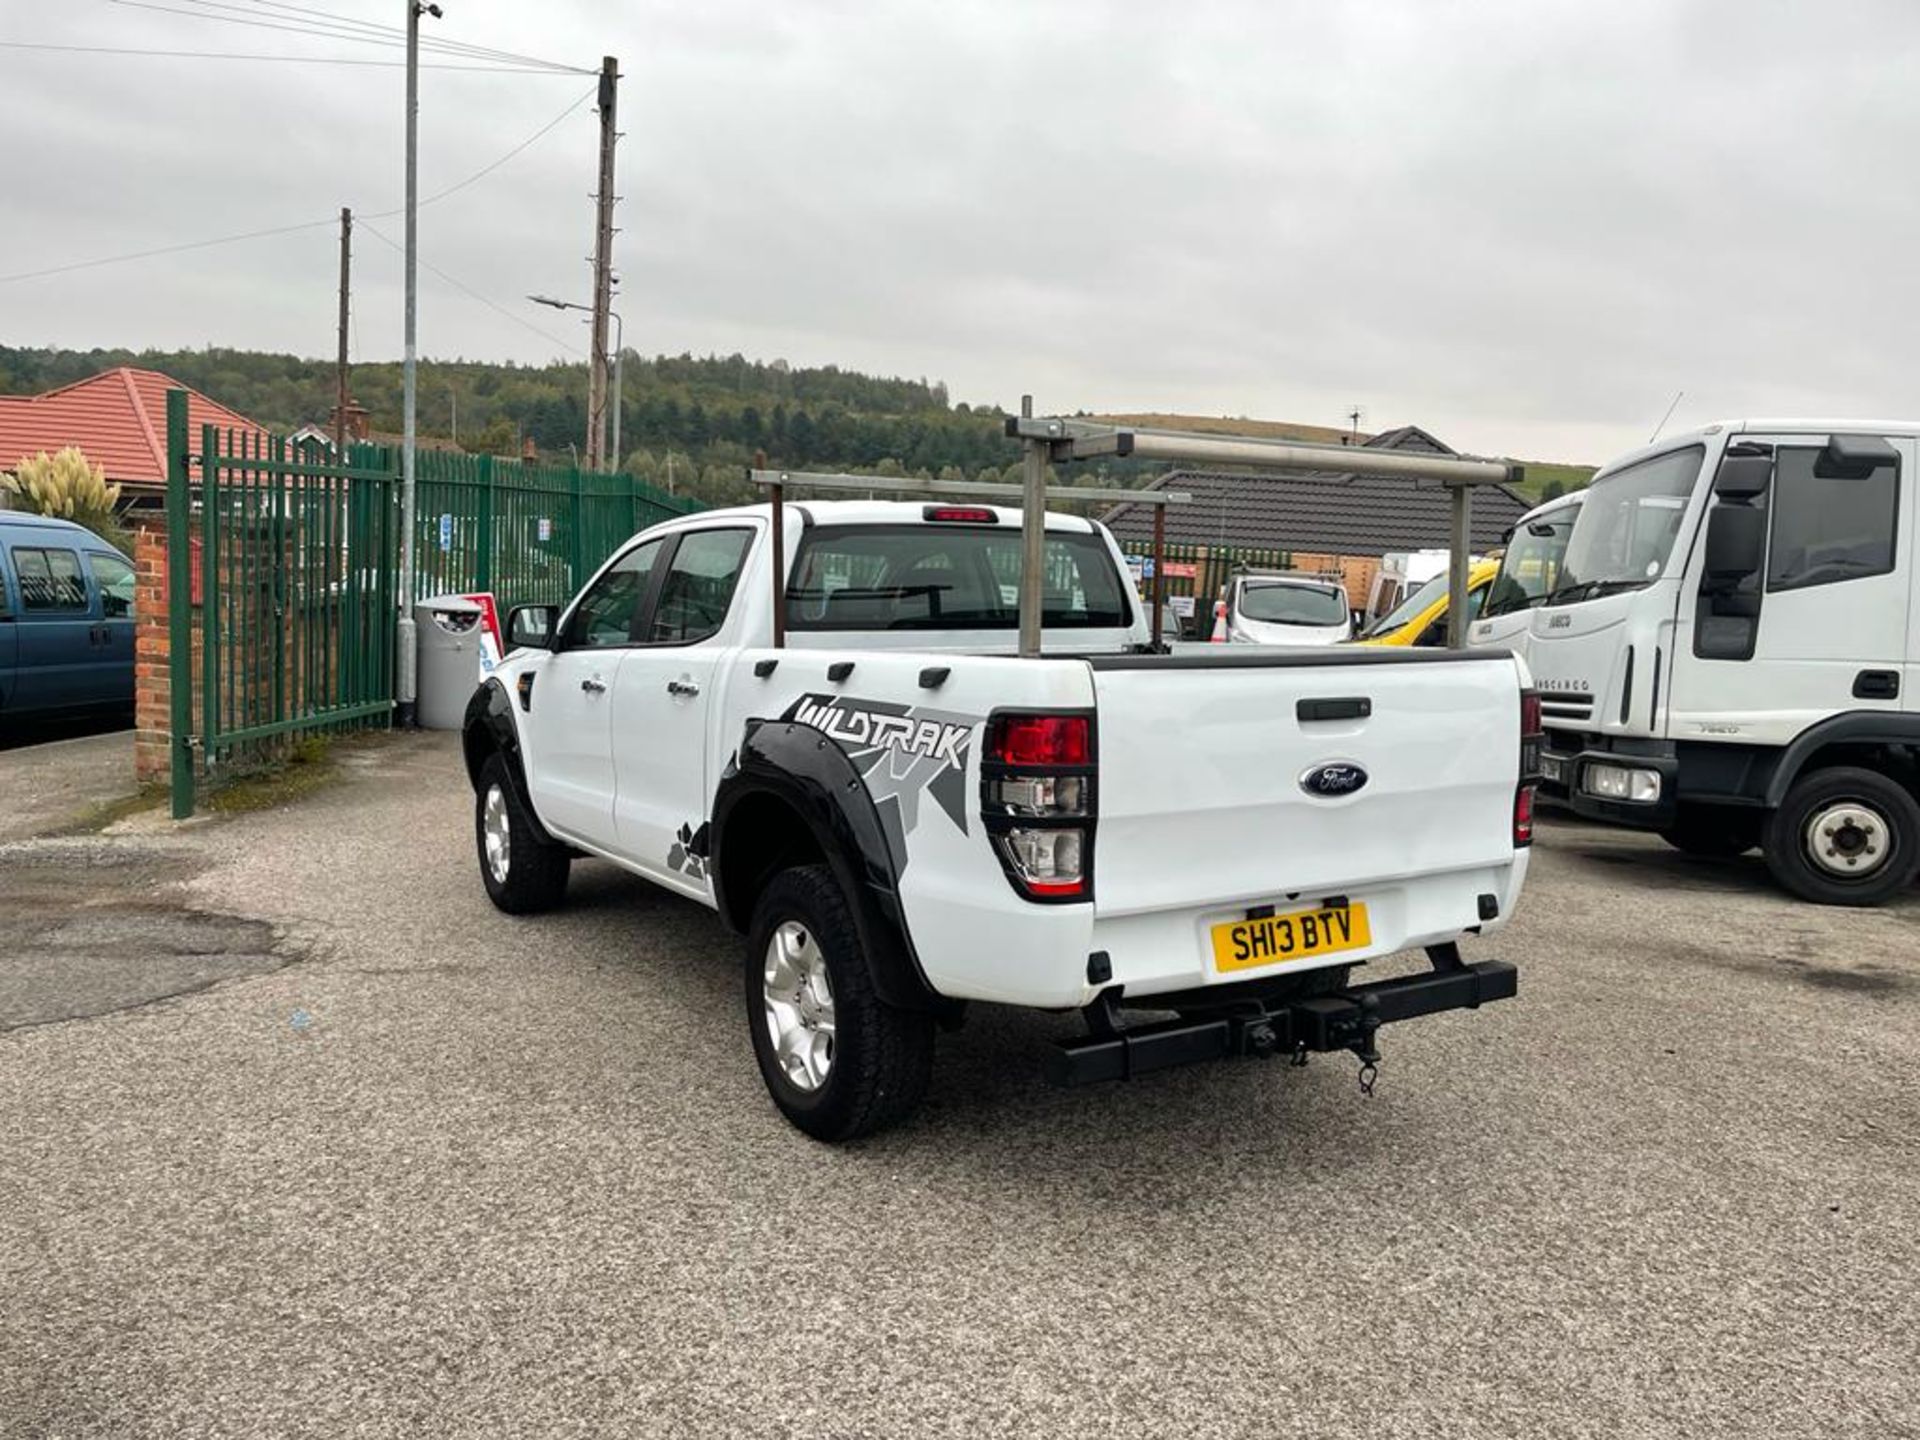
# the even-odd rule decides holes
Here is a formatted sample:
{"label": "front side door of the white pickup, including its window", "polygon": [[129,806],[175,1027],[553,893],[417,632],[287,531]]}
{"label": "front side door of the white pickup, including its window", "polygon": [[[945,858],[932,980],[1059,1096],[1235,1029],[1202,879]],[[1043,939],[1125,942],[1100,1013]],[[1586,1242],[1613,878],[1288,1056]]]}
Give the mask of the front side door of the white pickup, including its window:
{"label": "front side door of the white pickup, including its window", "polygon": [[559,649],[534,676],[522,722],[528,791],[541,824],[614,851],[612,685],[668,540],[634,545],[601,570],[561,620]]}

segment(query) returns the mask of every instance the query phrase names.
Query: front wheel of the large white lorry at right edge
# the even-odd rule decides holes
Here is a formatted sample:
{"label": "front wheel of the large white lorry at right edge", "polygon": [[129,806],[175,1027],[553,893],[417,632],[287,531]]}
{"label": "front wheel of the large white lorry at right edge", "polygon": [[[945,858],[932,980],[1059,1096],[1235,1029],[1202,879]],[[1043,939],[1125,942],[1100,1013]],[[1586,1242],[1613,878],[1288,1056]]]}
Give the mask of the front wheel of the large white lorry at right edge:
{"label": "front wheel of the large white lorry at right edge", "polygon": [[1814,770],[1766,822],[1766,868],[1803,900],[1880,904],[1920,872],[1920,803],[1874,770]]}

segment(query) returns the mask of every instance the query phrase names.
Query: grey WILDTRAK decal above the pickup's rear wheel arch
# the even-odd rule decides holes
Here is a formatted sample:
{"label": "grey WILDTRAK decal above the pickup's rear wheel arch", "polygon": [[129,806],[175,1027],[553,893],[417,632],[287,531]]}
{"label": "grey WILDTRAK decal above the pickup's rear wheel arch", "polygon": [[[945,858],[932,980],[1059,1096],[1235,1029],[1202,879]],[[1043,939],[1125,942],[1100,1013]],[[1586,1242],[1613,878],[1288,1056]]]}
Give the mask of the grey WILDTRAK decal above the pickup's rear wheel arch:
{"label": "grey WILDTRAK decal above the pickup's rear wheel arch", "polygon": [[920,797],[968,833],[966,766],[985,716],[929,710],[845,695],[801,695],[783,716],[839,745],[866,781],[895,866],[906,872],[906,837],[920,826]]}

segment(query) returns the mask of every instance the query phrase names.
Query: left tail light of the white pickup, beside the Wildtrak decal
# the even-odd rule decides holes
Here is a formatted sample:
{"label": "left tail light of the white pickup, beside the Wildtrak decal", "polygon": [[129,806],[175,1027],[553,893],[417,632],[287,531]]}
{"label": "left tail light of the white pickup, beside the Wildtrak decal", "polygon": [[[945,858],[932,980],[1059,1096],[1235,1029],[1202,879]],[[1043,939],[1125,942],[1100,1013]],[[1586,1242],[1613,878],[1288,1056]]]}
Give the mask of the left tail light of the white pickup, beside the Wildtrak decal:
{"label": "left tail light of the white pickup, beside the Wildtrak decal", "polygon": [[1000,868],[1029,900],[1092,897],[1092,716],[987,722],[981,818]]}

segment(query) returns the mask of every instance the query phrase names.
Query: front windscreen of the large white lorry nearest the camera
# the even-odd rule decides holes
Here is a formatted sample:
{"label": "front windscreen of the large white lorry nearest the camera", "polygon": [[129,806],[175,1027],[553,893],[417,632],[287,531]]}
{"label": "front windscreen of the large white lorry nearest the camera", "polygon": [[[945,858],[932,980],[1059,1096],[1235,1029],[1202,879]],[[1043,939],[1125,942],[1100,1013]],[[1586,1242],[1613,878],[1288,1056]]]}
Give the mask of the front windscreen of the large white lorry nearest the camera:
{"label": "front windscreen of the large white lorry nearest the camera", "polygon": [[1701,445],[1632,465],[1586,490],[1567,538],[1567,559],[1548,605],[1571,605],[1659,580],[1699,480]]}

